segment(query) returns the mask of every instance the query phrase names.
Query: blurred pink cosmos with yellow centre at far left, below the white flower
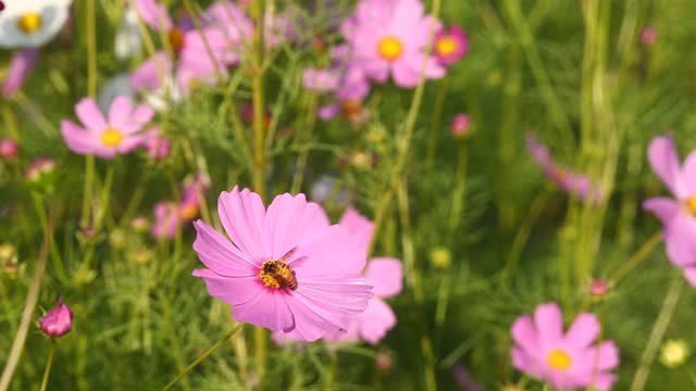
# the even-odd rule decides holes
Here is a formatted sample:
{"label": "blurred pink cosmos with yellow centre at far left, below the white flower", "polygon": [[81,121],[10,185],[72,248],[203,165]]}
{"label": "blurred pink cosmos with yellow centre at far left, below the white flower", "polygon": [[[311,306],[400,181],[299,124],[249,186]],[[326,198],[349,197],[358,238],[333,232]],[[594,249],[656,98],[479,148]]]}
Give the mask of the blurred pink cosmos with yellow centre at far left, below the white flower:
{"label": "blurred pink cosmos with yellow centre at far left, below the white flower", "polygon": [[91,98],[85,98],[75,105],[75,113],[84,127],[61,121],[61,134],[67,148],[78,154],[94,154],[113,159],[140,147],[149,137],[139,133],[150,122],[154,112],[146,104],[133,108],[126,97],[114,99],[108,118],[101,114]]}

